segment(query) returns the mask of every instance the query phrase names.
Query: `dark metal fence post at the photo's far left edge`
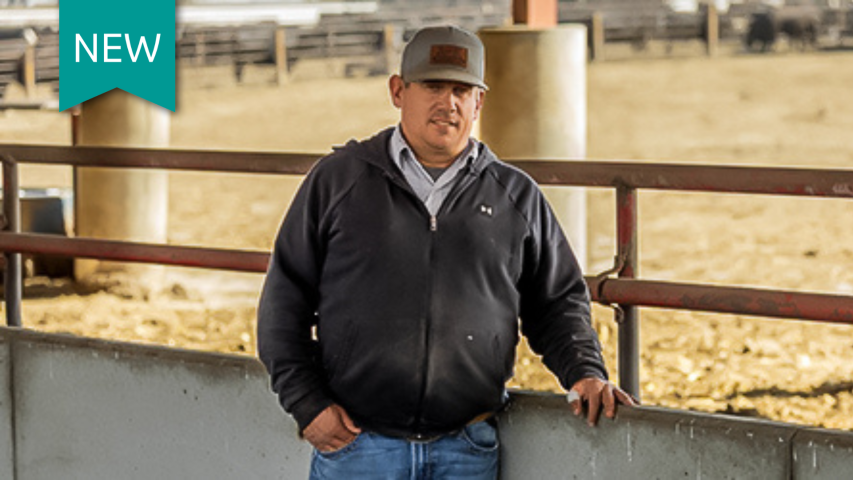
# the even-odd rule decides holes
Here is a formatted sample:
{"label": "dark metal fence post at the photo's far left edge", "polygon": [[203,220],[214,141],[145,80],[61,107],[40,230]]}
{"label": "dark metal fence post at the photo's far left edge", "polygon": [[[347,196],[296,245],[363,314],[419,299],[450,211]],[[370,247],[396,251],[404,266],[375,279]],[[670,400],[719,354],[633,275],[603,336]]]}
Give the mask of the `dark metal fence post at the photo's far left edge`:
{"label": "dark metal fence post at the photo's far left edge", "polygon": [[[21,232],[21,200],[18,197],[18,163],[14,158],[4,155],[3,160],[3,230],[12,233]],[[21,254],[5,252],[6,271],[3,279],[6,299],[6,324],[10,327],[21,326]]]}

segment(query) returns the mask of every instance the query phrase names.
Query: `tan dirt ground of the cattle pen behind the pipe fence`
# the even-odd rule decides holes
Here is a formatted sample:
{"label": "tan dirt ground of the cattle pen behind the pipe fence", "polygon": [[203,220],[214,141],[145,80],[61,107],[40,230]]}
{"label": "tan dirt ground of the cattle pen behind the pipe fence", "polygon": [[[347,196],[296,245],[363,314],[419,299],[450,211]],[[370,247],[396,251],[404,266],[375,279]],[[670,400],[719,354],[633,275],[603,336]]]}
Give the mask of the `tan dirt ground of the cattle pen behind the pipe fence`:
{"label": "tan dirt ground of the cattle pen behind the pipe fence", "polygon": [[[237,86],[227,70],[186,71],[172,145],[325,152],[395,122],[382,78],[329,79],[306,67],[281,88],[270,72]],[[591,65],[594,159],[853,168],[853,53],[635,59]],[[488,101],[488,99],[487,99]],[[0,111],[0,142],[70,142],[65,114]],[[25,186],[68,186],[33,167]],[[172,173],[169,242],[269,249],[295,181]],[[614,200],[589,193],[590,272],[610,267]],[[853,294],[853,202],[743,195],[640,195],[640,275],[649,279]],[[28,281],[27,327],[254,354],[259,275],[164,269],[164,288],[95,293]],[[616,376],[616,325],[595,323]],[[853,428],[853,326],[642,310],[649,405]],[[512,386],[554,389],[522,347]]]}

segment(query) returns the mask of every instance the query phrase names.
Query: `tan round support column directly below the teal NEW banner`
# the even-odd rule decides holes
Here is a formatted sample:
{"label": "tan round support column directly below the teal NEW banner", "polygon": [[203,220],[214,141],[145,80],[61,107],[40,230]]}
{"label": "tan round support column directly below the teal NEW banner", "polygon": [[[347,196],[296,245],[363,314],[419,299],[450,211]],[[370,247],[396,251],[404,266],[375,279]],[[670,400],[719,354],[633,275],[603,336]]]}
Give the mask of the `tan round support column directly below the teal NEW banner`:
{"label": "tan round support column directly below the teal NEW banner", "polygon": [[[80,105],[79,145],[168,147],[169,113],[123,90],[112,90]],[[165,243],[168,189],[169,176],[164,170],[76,169],[77,235]],[[162,266],[86,259],[79,259],[74,265],[78,281],[95,285],[118,281],[157,288],[162,272]]]}

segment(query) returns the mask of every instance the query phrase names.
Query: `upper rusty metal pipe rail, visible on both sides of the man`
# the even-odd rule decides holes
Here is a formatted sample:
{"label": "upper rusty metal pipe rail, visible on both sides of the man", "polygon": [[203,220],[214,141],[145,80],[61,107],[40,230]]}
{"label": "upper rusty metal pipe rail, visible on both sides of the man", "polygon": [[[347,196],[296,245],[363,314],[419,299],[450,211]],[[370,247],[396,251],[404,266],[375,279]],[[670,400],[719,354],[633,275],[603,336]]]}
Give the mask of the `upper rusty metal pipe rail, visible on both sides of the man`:
{"label": "upper rusty metal pipe rail, visible on both sides of the man", "polygon": [[[117,147],[0,145],[21,163],[134,167],[241,173],[304,174],[312,153],[166,150]],[[542,185],[632,187],[853,198],[853,170],[667,163],[523,160],[509,162]]]}

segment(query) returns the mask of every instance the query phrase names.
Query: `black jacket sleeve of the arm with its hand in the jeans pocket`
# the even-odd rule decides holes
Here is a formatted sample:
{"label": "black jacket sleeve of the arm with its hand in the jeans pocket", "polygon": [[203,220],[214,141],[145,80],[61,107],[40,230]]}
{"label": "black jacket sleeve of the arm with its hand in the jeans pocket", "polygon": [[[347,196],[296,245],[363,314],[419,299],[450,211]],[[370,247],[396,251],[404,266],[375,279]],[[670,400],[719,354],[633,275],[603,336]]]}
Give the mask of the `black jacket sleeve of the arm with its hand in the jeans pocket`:
{"label": "black jacket sleeve of the arm with its hand in the jeans pocket", "polygon": [[314,335],[323,257],[320,223],[328,203],[317,183],[312,170],[285,216],[258,306],[258,355],[300,432],[333,403]]}

